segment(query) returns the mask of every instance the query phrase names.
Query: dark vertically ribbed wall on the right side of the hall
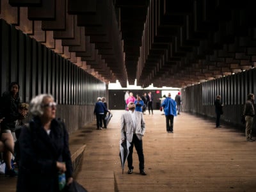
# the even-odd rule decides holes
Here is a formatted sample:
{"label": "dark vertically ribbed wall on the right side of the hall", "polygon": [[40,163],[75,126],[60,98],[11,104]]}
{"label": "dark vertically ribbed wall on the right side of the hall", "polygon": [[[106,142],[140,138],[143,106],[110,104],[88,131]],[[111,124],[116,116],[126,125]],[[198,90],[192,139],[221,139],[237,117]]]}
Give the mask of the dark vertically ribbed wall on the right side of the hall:
{"label": "dark vertically ribbed wall on the right side of the hall", "polygon": [[224,104],[221,120],[243,126],[241,115],[248,93],[256,93],[256,68],[183,88],[182,109],[215,118],[214,100],[221,95]]}

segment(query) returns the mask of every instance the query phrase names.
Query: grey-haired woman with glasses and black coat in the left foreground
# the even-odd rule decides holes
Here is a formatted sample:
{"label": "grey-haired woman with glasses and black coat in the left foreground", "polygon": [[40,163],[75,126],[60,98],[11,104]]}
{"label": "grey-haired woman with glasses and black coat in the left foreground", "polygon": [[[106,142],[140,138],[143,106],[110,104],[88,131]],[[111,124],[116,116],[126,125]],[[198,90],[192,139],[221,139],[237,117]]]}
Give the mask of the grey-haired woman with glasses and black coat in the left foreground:
{"label": "grey-haired woman with glasses and black coat in the left foreground", "polygon": [[64,175],[71,184],[72,161],[65,125],[56,120],[56,103],[52,95],[38,95],[29,105],[33,116],[20,132],[20,164],[17,192],[61,191],[59,179]]}

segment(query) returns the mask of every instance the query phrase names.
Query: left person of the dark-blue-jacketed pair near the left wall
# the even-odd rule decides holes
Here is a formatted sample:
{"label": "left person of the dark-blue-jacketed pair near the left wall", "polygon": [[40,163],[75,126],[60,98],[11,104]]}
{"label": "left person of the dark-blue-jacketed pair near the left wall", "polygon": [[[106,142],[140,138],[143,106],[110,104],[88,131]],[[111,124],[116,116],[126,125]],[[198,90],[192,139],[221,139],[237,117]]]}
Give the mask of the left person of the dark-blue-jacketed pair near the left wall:
{"label": "left person of the dark-blue-jacketed pair near the left wall", "polygon": [[110,111],[103,104],[101,97],[98,97],[97,102],[95,103],[94,111],[93,111],[94,115],[96,115],[98,130],[102,129],[102,121],[103,121],[104,113],[108,113],[108,112],[110,113]]}

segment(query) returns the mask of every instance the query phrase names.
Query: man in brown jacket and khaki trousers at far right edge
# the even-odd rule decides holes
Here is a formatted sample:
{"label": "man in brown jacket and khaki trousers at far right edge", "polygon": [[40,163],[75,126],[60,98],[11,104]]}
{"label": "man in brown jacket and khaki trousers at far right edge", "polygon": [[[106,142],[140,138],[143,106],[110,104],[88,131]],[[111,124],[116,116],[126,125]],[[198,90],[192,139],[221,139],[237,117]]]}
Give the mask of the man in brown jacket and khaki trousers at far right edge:
{"label": "man in brown jacket and khaki trousers at far right edge", "polygon": [[253,123],[253,116],[255,116],[255,109],[253,106],[254,99],[255,99],[255,95],[253,95],[253,93],[248,94],[246,103],[244,105],[244,113],[243,113],[246,121],[245,137],[246,137],[246,141],[249,141],[249,142],[255,141],[252,138],[252,123]]}

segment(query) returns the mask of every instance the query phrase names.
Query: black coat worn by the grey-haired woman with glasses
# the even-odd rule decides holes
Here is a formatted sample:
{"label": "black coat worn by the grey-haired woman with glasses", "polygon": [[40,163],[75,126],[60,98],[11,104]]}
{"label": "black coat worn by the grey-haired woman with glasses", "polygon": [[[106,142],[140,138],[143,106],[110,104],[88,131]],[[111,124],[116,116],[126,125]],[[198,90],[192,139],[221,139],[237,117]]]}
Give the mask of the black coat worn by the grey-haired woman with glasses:
{"label": "black coat worn by the grey-haired woman with glasses", "polygon": [[56,161],[66,163],[66,178],[72,177],[72,161],[68,147],[68,133],[64,124],[52,120],[50,135],[39,118],[23,127],[19,138],[20,164],[17,192],[55,192],[58,190]]}

